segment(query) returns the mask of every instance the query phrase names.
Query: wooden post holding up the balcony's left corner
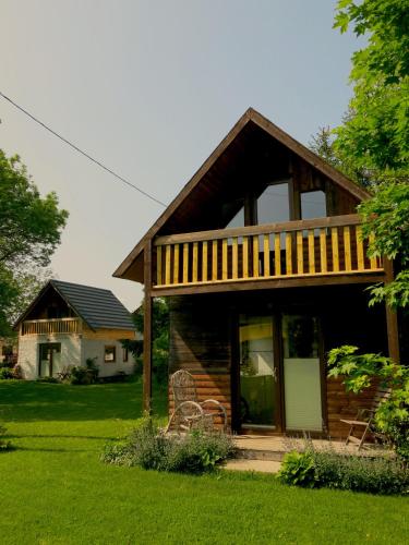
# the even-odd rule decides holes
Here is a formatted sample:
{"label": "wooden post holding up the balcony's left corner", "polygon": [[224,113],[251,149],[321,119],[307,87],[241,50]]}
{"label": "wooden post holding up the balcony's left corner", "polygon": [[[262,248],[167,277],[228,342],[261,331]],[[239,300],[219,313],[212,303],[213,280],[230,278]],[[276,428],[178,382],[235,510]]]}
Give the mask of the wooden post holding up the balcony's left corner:
{"label": "wooden post holding up the balcony's left corner", "polygon": [[148,240],[144,250],[144,384],[143,384],[143,404],[144,411],[151,413],[152,404],[152,240]]}

